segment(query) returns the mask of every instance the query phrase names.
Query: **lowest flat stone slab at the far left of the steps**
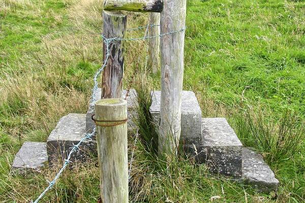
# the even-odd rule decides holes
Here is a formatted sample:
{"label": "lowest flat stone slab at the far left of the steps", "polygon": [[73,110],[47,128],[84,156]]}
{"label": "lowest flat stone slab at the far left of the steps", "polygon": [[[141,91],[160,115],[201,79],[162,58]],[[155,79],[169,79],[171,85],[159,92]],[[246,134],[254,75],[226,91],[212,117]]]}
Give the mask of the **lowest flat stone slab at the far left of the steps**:
{"label": "lowest flat stone slab at the far left of the steps", "polygon": [[25,142],[16,154],[11,169],[20,175],[40,172],[47,160],[46,143]]}

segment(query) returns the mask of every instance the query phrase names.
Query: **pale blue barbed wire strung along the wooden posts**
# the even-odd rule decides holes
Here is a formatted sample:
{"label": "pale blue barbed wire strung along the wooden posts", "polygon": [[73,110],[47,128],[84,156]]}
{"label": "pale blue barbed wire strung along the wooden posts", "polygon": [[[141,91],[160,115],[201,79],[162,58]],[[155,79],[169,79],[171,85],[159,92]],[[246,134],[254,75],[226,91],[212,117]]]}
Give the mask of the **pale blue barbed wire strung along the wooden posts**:
{"label": "pale blue barbed wire strung along the wooden posts", "polygon": [[[154,27],[154,26],[160,26],[160,25],[147,25],[147,26],[140,26],[140,27],[137,27],[137,28],[132,28],[132,29],[129,29],[129,30],[137,30],[137,29],[142,29],[142,28],[149,28],[149,27]],[[150,38],[157,38],[157,37],[163,37],[163,36],[166,36],[166,35],[170,35],[172,33],[176,33],[176,32],[180,32],[180,31],[184,31],[186,29],[186,27],[184,28],[181,28],[181,29],[178,29],[178,30],[174,30],[174,31],[170,31],[170,32],[166,32],[166,33],[161,33],[160,35],[157,35],[157,36],[147,36],[147,29],[146,29],[146,33],[144,35],[144,37],[141,37],[141,38],[105,38],[103,36],[103,34],[101,34],[103,40],[104,40],[104,43],[106,45],[106,57],[105,57],[105,60],[103,61],[102,63],[102,66],[100,67],[100,69],[96,72],[96,74],[94,75],[94,86],[93,86],[93,89],[92,89],[92,95],[90,97],[90,99],[95,102],[97,100],[97,90],[98,90],[98,78],[100,76],[100,74],[103,72],[104,68],[106,67],[107,65],[107,62],[108,62],[108,58],[110,56],[110,45],[112,42],[114,41],[135,41],[135,40],[146,40],[146,39],[150,39]],[[60,177],[60,175],[62,175],[62,173],[64,172],[65,168],[67,167],[67,165],[72,162],[70,161],[70,158],[71,158],[71,155],[76,152],[77,150],[79,150],[79,146],[81,145],[82,142],[84,142],[85,140],[92,140],[92,137],[95,136],[96,134],[96,127],[94,127],[93,129],[93,132],[92,133],[85,133],[85,137],[83,137],[76,145],[74,145],[72,147],[72,150],[70,151],[67,159],[65,159],[65,162],[62,166],[62,168],[60,168],[59,172],[56,174],[56,176],[54,177],[54,179],[49,182],[49,185],[48,187],[46,187],[46,189],[39,195],[39,197],[37,197],[37,199],[33,202],[32,200],[32,203],[38,203],[39,200],[47,193],[48,190],[50,190],[54,185],[55,185],[55,182],[57,181],[57,179]],[[133,161],[133,155],[134,155],[134,149],[135,149],[135,145],[136,145],[136,141],[137,141],[137,137],[138,137],[138,133],[136,134],[136,138],[135,138],[135,142],[134,142],[134,147],[133,147],[133,151],[132,151],[132,154],[131,154],[131,161],[130,161],[130,166],[129,166],[129,175],[128,175],[128,181],[130,180],[130,174],[131,174],[131,167],[132,167],[132,161]]]}

